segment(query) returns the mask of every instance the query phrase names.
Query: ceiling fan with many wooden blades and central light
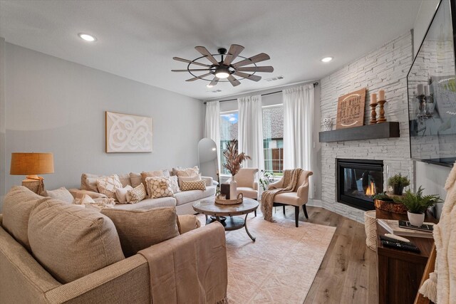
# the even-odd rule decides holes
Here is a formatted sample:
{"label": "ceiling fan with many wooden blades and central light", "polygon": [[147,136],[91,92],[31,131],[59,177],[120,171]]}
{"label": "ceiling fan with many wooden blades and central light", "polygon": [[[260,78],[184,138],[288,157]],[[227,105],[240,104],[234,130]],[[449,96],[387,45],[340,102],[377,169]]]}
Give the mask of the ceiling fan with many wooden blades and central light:
{"label": "ceiling fan with many wooden blades and central light", "polygon": [[[239,54],[244,50],[244,46],[239,46],[238,44],[232,44],[227,53],[226,48],[219,48],[217,51],[218,54],[211,54],[207,51],[207,48],[204,46],[196,46],[195,49],[201,53],[201,57],[196,58],[193,61],[173,57],[175,61],[182,61],[188,63],[187,70],[172,70],[172,72],[188,72],[194,76],[193,78],[187,79],[185,81],[195,81],[197,79],[206,80],[210,83],[207,87],[212,88],[214,85],[217,85],[219,82],[231,83],[234,87],[240,85],[239,80],[249,79],[253,81],[261,80],[261,76],[255,75],[256,73],[272,73],[274,68],[269,66],[258,66],[257,63],[261,61],[269,60],[269,55],[266,53],[259,53],[258,55],[246,58],[239,56]],[[220,56],[220,61],[217,61],[215,57]],[[199,62],[200,59],[206,58],[212,64],[206,64]],[[233,63],[234,59],[242,58],[241,61]],[[204,66],[204,68],[197,68],[195,65]],[[249,65],[249,66],[247,66]],[[253,73],[244,73],[244,72],[253,72]],[[203,73],[202,75],[197,75]],[[234,78],[234,75],[239,78]],[[212,77],[214,76],[214,77]],[[209,79],[207,79],[209,78]],[[227,79],[227,80],[225,80]]]}

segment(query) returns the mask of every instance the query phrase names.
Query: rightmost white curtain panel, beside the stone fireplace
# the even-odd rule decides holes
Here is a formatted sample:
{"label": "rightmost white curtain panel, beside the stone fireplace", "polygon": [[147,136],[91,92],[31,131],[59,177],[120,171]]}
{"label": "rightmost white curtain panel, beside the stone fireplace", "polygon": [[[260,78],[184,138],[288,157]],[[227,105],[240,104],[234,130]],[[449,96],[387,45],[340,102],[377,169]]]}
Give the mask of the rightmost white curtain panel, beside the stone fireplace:
{"label": "rightmost white curtain panel, beside the stone fireplace", "polygon": [[[314,84],[299,85],[282,91],[284,98],[284,169],[313,171]],[[314,198],[310,178],[309,198]]]}

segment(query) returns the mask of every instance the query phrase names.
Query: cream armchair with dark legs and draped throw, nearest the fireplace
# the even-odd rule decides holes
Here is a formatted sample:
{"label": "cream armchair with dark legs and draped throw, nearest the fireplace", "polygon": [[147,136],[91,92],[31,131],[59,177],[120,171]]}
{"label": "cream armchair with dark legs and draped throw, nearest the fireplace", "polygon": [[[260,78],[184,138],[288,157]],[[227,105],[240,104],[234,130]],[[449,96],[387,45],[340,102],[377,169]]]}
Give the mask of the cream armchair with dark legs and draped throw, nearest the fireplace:
{"label": "cream armchair with dark legs and draped throw, nearest the fireplace", "polygon": [[[304,210],[304,216],[306,216],[306,219],[309,219],[309,216],[307,215],[306,204],[309,199],[309,177],[312,174],[314,174],[314,172],[304,170],[301,172],[301,176],[299,177],[295,192],[285,192],[274,196],[273,206],[283,206],[284,214],[286,205],[294,206],[294,220],[296,221],[296,227],[298,227],[300,206],[302,206],[302,209]],[[282,178],[279,180],[279,182],[269,184],[268,190],[283,188],[283,183],[284,182]]]}

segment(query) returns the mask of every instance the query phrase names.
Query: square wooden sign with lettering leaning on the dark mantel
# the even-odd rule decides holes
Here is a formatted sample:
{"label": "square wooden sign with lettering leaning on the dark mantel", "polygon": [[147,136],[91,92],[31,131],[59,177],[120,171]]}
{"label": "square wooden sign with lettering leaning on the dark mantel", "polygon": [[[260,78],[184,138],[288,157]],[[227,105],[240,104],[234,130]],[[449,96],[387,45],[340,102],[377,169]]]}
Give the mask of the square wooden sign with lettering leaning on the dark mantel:
{"label": "square wooden sign with lettering leaning on the dark mantel", "polygon": [[366,88],[339,97],[337,103],[336,129],[364,125]]}

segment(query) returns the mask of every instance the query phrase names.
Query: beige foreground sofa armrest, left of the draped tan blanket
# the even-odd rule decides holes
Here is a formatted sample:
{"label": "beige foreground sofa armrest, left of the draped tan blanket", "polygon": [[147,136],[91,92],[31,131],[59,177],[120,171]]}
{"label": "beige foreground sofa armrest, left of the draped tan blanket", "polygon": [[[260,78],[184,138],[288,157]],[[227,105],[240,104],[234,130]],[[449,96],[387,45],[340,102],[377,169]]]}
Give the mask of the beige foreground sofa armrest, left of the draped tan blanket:
{"label": "beige foreground sofa armrest, left of the draped tan blanket", "polygon": [[49,303],[150,303],[149,266],[139,254],[46,292]]}

